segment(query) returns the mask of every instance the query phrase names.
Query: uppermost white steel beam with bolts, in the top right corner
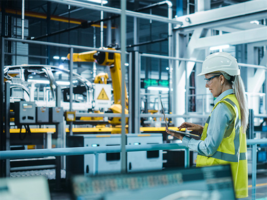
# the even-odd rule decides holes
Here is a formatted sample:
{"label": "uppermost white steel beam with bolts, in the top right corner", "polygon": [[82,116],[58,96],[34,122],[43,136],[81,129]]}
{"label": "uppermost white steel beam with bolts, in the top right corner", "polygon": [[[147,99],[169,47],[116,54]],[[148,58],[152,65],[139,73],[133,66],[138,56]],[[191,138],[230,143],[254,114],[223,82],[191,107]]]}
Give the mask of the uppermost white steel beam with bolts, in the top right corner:
{"label": "uppermost white steel beam with bolts, in the top right corner", "polygon": [[181,32],[188,32],[196,28],[212,28],[249,22],[266,18],[266,16],[267,1],[254,0],[177,17],[176,20],[182,22],[183,25],[178,25],[175,29]]}

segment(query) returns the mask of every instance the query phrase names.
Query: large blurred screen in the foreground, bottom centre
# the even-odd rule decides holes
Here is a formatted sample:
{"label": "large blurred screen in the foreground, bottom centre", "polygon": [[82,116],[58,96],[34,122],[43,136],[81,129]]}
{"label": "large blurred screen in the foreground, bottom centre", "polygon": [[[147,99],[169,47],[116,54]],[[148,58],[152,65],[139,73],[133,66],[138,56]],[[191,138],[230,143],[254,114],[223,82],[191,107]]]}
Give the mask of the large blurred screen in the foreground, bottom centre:
{"label": "large blurred screen in the foreground, bottom centre", "polygon": [[235,199],[230,165],[75,176],[76,199]]}

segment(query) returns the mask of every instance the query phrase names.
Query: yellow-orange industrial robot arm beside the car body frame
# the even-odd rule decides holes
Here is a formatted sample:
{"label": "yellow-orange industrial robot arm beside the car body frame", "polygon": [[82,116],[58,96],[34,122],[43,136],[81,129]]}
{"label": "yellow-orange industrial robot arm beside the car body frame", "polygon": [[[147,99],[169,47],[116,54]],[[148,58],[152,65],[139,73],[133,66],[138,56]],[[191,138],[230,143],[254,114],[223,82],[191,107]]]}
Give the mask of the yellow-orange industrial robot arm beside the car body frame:
{"label": "yellow-orange industrial robot arm beside the car body frame", "polygon": [[[121,54],[116,53],[116,50],[113,48],[102,48],[104,50],[114,50],[113,52],[103,52],[103,51],[87,51],[82,53],[73,53],[73,62],[95,62],[99,65],[110,66],[110,73],[113,86],[113,98],[114,104],[111,105],[109,112],[112,113],[121,113]],[[67,55],[67,58],[70,59],[70,54]],[[94,83],[107,83],[107,74],[101,73],[95,79]],[[125,85],[125,84],[124,84]],[[126,85],[125,85],[126,91]],[[127,92],[125,92],[125,113],[128,114],[128,97]],[[120,117],[112,117],[109,119],[109,123],[112,125],[120,125]],[[127,122],[127,119],[126,119]]]}

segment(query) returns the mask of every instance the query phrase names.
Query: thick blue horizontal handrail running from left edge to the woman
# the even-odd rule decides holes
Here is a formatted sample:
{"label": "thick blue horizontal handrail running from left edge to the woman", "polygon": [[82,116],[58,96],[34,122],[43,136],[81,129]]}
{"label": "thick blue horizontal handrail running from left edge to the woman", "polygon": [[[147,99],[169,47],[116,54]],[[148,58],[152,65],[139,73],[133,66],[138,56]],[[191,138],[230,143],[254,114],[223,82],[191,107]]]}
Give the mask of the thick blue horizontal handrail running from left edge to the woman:
{"label": "thick blue horizontal handrail running from left edge to the woman", "polygon": [[[126,145],[126,152],[133,151],[158,151],[169,149],[185,149],[181,143],[154,144],[154,145]],[[0,159],[32,158],[45,156],[62,155],[84,155],[96,153],[119,153],[121,146],[104,147],[71,147],[71,148],[52,148],[52,149],[32,149],[32,150],[12,150],[0,151]]]}

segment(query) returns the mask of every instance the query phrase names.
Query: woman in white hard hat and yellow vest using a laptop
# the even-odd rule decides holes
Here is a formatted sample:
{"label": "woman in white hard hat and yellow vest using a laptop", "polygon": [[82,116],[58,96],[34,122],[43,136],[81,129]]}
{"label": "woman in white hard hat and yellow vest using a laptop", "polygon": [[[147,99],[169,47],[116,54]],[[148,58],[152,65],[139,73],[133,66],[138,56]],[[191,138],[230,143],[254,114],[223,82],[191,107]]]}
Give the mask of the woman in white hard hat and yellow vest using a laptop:
{"label": "woman in white hard hat and yellow vest using a laptop", "polygon": [[202,134],[201,139],[166,132],[198,152],[197,167],[230,164],[236,197],[247,197],[245,132],[249,110],[236,58],[226,52],[208,55],[200,75],[205,75],[205,87],[216,97],[215,106],[204,127],[184,122],[178,128],[198,131]]}

